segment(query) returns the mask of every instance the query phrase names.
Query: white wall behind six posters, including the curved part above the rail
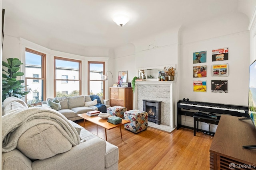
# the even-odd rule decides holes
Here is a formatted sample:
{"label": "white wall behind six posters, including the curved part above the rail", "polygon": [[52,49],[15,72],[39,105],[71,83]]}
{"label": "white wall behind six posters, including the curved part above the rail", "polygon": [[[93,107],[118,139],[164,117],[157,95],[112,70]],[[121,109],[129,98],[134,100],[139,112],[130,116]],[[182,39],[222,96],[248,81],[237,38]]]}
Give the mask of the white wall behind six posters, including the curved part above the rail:
{"label": "white wall behind six posters, including the curved part above the rail", "polygon": [[[217,23],[217,24],[216,24]],[[239,24],[238,24],[239,23]],[[234,14],[206,20],[182,29],[179,99],[248,105],[249,19]],[[212,49],[228,47],[228,60],[212,62]],[[207,51],[206,63],[193,64],[193,53]],[[212,64],[228,64],[228,76],[212,77]],[[206,65],[206,78],[193,78],[193,66]],[[193,92],[193,80],[206,80],[207,92]],[[211,80],[228,80],[228,93],[211,92]]]}

